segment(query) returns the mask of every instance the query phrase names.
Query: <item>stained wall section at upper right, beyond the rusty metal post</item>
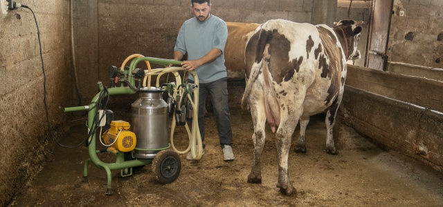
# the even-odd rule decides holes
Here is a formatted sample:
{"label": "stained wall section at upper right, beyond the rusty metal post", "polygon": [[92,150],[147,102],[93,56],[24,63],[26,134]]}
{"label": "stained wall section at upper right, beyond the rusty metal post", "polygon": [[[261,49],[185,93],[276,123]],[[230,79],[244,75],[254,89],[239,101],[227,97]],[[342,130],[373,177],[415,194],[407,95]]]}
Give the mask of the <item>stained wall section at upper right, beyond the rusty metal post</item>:
{"label": "stained wall section at upper right, beyond the rusty metal post", "polygon": [[395,0],[392,10],[388,61],[443,68],[443,1]]}

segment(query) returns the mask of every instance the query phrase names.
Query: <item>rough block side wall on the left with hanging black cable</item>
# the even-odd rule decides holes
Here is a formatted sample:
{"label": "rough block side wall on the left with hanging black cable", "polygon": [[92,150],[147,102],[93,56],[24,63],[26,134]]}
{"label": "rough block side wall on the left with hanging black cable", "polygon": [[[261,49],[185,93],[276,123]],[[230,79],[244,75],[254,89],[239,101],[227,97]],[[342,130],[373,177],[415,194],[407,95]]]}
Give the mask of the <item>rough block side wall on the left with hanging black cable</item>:
{"label": "rough block side wall on the left with hanging black cable", "polygon": [[[29,179],[51,155],[44,110],[44,75],[37,27],[26,8],[0,13],[0,206],[26,188]],[[53,130],[64,122],[64,106],[73,96],[69,50],[69,1],[22,0],[38,21],[49,122]],[[51,5],[51,6],[48,6]],[[57,135],[57,133],[56,133]]]}

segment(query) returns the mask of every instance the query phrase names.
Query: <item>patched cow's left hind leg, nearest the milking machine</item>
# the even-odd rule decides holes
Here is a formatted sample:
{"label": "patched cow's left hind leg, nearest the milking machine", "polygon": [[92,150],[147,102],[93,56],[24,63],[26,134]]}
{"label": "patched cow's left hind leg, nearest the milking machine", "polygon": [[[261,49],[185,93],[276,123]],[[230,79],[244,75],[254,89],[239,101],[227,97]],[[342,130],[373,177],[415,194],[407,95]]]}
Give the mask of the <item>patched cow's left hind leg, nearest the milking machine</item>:
{"label": "patched cow's left hind leg, nearest the milking machine", "polygon": [[254,125],[254,134],[252,135],[254,143],[254,161],[251,168],[251,173],[248,175],[248,183],[261,184],[262,183],[262,170],[260,168],[260,157],[264,146],[264,128],[266,124],[266,115],[264,110],[257,108],[257,105],[251,106],[251,115]]}

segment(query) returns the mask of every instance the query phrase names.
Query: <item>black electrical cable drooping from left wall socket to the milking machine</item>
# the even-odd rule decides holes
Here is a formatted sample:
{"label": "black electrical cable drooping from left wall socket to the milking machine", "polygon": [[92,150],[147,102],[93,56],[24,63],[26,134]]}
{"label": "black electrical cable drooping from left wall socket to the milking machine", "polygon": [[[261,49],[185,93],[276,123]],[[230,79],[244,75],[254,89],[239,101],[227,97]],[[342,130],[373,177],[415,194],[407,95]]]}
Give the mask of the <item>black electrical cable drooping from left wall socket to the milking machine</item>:
{"label": "black electrical cable drooping from left wall socket to the milking machine", "polygon": [[[77,146],[64,146],[63,144],[60,144],[60,143],[57,141],[57,139],[55,139],[55,136],[53,135],[53,132],[52,132],[52,129],[51,129],[51,123],[49,122],[48,104],[46,103],[46,74],[45,74],[45,72],[44,72],[44,61],[43,61],[43,52],[42,52],[42,41],[40,40],[39,24],[37,23],[37,18],[35,17],[35,13],[34,13],[34,11],[33,11],[31,8],[29,8],[29,7],[26,6],[26,5],[21,5],[21,7],[23,7],[23,8],[27,8],[28,10],[30,10],[30,12],[33,13],[34,20],[35,20],[35,25],[37,26],[37,38],[38,38],[38,40],[39,40],[40,59],[41,59],[41,61],[42,61],[42,71],[43,71],[43,92],[44,92],[44,95],[43,95],[43,102],[44,102],[44,109],[45,109],[45,112],[46,112],[46,123],[48,124],[48,132],[49,132],[49,134],[51,135],[51,137],[53,138],[53,140],[55,141],[55,143],[57,143],[58,146],[62,146],[62,147],[64,147],[64,148],[77,148],[78,146],[82,145],[85,141],[87,141],[87,139],[89,139],[89,137],[91,137],[91,135],[93,135],[93,133],[96,133],[96,131],[97,131],[97,129],[98,129],[98,126],[95,126],[95,128],[89,130],[89,133],[88,133],[88,137],[87,137],[87,139],[84,139],[84,140],[82,141],[82,143],[78,144]],[[103,96],[105,95],[105,93],[107,94],[107,99],[106,99],[105,106],[104,106],[104,108],[106,109],[107,103],[108,103],[108,101],[109,101],[109,92],[108,92],[108,90],[107,90],[106,87],[105,87],[104,90],[102,90],[102,91],[100,92],[100,96],[99,96],[99,99],[98,99],[99,101],[98,101],[98,103],[96,104],[96,106],[94,106],[93,108],[100,108],[100,106],[101,106],[100,101],[102,100],[102,98],[103,98]],[[97,106],[97,105],[98,105],[98,106]],[[93,108],[91,108],[91,109],[89,109],[89,110],[92,110]],[[96,116],[94,117],[94,121],[93,121],[93,123],[97,123],[97,122],[96,122],[96,120],[97,120],[97,119],[96,119],[97,116],[98,116],[98,115],[96,115]],[[100,121],[102,120],[103,117],[105,117],[105,113],[103,113],[102,117],[100,117],[100,119],[99,119],[99,123],[100,123]],[[97,124],[96,124],[96,125],[97,125]],[[89,143],[87,142],[87,146],[89,146],[89,144],[90,144],[90,142],[89,142]]]}

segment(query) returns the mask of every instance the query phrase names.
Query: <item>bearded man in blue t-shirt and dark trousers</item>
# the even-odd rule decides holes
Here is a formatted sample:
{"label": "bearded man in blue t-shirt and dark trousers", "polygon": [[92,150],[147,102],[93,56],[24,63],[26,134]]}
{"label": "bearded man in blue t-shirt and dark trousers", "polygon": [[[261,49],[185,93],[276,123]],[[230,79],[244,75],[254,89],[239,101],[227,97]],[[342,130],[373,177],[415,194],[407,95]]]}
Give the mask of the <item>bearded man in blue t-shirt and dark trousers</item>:
{"label": "bearded man in blue t-shirt and dark trousers", "polygon": [[[199,129],[201,141],[204,141],[204,109],[206,97],[210,94],[220,146],[224,152],[224,160],[235,159],[231,142],[233,140],[230,127],[228,108],[227,73],[224,66],[224,46],[228,37],[226,23],[219,17],[210,14],[210,0],[191,0],[191,10],[195,17],[188,19],[180,28],[179,36],[174,47],[174,59],[181,60],[188,52],[188,60],[181,66],[188,71],[194,70],[199,77]],[[194,77],[189,76],[188,82],[194,83]],[[205,145],[203,144],[204,155]],[[186,159],[192,159],[190,152]]]}

